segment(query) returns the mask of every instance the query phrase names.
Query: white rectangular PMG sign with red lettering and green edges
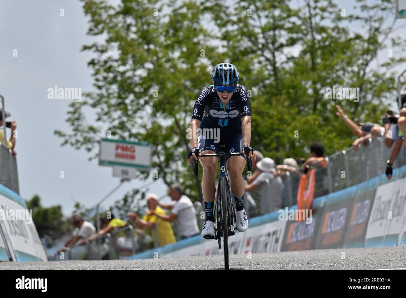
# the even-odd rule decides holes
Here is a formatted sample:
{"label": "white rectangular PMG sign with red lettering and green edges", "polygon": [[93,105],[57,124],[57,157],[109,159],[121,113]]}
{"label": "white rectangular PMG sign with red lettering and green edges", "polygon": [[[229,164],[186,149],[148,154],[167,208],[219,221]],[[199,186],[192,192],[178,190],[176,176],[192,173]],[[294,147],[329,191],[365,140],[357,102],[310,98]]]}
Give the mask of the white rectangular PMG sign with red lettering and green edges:
{"label": "white rectangular PMG sign with red lettering and green edges", "polygon": [[151,165],[151,145],[147,142],[102,139],[99,165],[121,165],[148,169]]}

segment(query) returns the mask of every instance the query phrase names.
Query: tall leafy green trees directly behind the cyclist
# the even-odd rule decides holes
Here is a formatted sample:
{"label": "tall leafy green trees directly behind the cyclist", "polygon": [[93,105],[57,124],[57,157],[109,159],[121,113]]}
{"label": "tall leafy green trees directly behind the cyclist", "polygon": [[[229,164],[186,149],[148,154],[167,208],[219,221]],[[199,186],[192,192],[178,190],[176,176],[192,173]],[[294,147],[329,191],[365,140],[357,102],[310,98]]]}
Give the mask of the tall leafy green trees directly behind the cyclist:
{"label": "tall leafy green trees directly behind the cyclist", "polygon": [[[71,132],[56,135],[91,158],[107,131],[148,141],[159,178],[183,184],[192,200],[202,194],[185,159],[186,129],[196,96],[211,84],[209,72],[217,63],[238,66],[240,84],[252,94],[251,143],[281,161],[304,157],[311,141],[323,141],[326,154],[350,146],[353,136],[335,116],[335,104],[351,118],[377,122],[387,99],[395,97],[390,70],[404,62],[403,55],[394,55],[373,68],[387,43],[393,51],[405,46],[404,39],[388,40],[396,30],[386,25],[393,9],[389,0],[359,0],[361,13],[346,16],[331,0],[82,2],[88,34],[106,38],[83,46],[94,54],[88,65],[95,91],[71,104]],[[352,22],[366,33],[351,30]],[[334,85],[359,88],[359,102],[327,99],[326,88]],[[89,108],[96,116],[90,124],[84,116]],[[140,172],[138,178],[147,176]]]}

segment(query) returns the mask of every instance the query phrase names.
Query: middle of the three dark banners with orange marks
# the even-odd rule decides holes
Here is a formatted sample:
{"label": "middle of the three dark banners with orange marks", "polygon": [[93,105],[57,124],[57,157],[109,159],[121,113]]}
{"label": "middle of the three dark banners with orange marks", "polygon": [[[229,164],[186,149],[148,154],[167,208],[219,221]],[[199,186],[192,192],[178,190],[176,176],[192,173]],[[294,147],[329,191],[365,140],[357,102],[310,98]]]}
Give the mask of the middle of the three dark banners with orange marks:
{"label": "middle of the three dark banners with orange marks", "polygon": [[348,199],[324,207],[315,249],[343,247],[351,205],[352,200]]}

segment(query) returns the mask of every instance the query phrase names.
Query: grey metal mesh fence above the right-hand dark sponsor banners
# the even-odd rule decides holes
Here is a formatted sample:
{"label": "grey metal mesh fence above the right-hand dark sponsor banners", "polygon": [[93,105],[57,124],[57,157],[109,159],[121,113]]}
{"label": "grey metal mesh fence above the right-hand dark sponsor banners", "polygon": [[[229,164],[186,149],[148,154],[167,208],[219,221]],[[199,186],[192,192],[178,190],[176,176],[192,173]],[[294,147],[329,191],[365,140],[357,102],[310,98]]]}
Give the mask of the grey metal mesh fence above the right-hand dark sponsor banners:
{"label": "grey metal mesh fence above the right-hand dark sponsor banners", "polygon": [[[322,167],[321,162],[314,163],[312,165],[316,169],[314,198],[346,189],[384,174],[392,149],[393,146],[387,148],[384,138],[378,136],[369,139],[366,144],[358,145],[357,150],[350,147],[326,157],[327,167]],[[406,150],[401,148],[392,167],[396,169],[405,164]],[[300,178],[298,179],[295,175],[298,173],[298,171],[289,173],[285,180],[284,207],[293,206],[297,203],[296,197]]]}

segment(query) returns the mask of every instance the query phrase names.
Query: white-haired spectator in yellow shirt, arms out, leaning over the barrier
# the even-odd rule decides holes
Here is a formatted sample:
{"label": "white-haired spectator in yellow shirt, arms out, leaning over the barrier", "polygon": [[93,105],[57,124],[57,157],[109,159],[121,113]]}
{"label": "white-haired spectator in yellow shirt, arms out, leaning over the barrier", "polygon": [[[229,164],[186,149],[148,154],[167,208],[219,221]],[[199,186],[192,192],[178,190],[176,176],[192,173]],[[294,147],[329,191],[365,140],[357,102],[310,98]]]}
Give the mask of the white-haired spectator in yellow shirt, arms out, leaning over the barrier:
{"label": "white-haired spectator in yellow shirt, arms out, leaning over the barrier", "polygon": [[[149,210],[154,211],[155,214],[164,215],[165,211],[158,207],[158,203],[157,195],[153,193],[147,195],[147,206]],[[140,229],[149,229],[152,237],[155,239],[156,245],[163,246],[176,242],[171,224],[152,214],[151,211],[147,211],[143,219],[140,219],[135,212],[128,212],[127,216]],[[155,229],[157,235],[155,235]]]}

